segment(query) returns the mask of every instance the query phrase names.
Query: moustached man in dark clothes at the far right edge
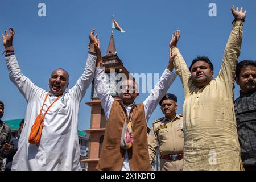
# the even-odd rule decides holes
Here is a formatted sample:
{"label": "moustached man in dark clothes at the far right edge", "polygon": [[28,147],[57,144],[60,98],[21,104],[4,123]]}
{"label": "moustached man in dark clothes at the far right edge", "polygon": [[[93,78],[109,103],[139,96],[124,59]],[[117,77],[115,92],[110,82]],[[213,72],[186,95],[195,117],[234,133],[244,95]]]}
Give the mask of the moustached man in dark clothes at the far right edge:
{"label": "moustached man in dark clothes at the far right edge", "polygon": [[246,171],[256,171],[256,61],[237,64],[240,96],[234,101],[241,158]]}

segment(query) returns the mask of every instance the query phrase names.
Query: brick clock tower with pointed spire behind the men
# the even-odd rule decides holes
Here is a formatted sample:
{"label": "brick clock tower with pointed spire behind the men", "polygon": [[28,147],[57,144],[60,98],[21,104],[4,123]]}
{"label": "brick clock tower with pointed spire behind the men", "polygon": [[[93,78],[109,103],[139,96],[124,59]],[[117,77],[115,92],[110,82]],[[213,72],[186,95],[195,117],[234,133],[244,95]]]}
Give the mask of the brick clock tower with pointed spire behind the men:
{"label": "brick clock tower with pointed spire behind the men", "polygon": [[[115,100],[120,100],[117,92],[115,91],[115,85],[117,82],[115,81],[115,75],[118,73],[124,73],[127,77],[129,72],[125,67],[123,67],[123,63],[121,59],[117,56],[117,50],[115,49],[115,42],[113,37],[113,31],[111,34],[111,38],[109,40],[109,47],[106,51],[106,55],[102,57],[102,64],[105,67],[106,75],[108,75],[109,80],[114,79],[109,82],[110,94]],[[113,73],[110,74],[110,69],[112,69]],[[92,82],[94,85],[94,81]],[[104,139],[105,125],[106,125],[106,117],[104,110],[101,107],[101,101],[97,97],[97,93],[94,90],[94,86],[92,86],[92,101],[87,102],[86,104],[92,107],[91,116],[90,116],[90,129],[85,130],[90,134],[89,138],[89,158],[82,160],[82,162],[88,163],[88,171],[96,170],[96,166],[98,164],[98,160],[100,158],[100,151],[102,142]],[[121,101],[121,100],[120,100]]]}

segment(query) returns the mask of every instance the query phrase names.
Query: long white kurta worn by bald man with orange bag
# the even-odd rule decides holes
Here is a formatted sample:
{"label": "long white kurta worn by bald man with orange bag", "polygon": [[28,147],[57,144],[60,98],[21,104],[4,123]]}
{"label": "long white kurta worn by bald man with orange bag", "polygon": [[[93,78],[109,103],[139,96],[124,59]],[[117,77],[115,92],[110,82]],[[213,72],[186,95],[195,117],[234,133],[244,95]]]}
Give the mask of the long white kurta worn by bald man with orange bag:
{"label": "long white kurta worn by bald man with orange bag", "polygon": [[[10,35],[6,35],[6,39]],[[4,46],[6,47],[5,44]],[[68,92],[64,92],[49,109],[44,118],[39,145],[28,143],[28,137],[48,92],[34,85],[22,74],[14,53],[6,53],[5,59],[11,81],[18,87],[28,103],[26,122],[20,135],[18,151],[13,158],[12,170],[79,170],[81,167],[77,117],[80,101],[93,80],[96,65],[95,54],[89,52],[84,73],[77,80],[76,85]],[[49,93],[43,106],[43,113],[56,98],[56,95]]]}

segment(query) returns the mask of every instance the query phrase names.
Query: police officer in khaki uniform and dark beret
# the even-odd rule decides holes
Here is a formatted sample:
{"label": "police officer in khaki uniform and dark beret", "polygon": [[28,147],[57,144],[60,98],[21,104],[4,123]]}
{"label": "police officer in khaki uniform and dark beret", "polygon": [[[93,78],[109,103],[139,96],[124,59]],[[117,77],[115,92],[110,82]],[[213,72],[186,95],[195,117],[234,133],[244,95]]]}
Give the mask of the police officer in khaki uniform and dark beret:
{"label": "police officer in khaki uniform and dark beret", "polygon": [[180,171],[183,167],[183,119],[176,114],[177,97],[167,93],[159,104],[165,117],[153,122],[148,138],[148,152],[150,163],[155,158],[159,144],[160,170]]}

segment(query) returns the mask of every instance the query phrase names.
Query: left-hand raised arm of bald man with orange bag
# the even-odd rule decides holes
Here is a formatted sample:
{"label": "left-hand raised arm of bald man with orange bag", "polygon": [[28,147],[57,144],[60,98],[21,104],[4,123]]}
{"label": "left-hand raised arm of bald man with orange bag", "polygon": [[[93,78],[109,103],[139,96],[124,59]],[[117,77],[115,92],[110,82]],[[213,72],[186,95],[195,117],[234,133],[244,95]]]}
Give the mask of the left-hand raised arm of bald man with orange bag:
{"label": "left-hand raised arm of bald man with orange bag", "polygon": [[18,61],[14,54],[13,37],[14,30],[10,28],[10,34],[5,30],[5,36],[2,34],[3,46],[5,46],[5,60],[9,71],[10,80],[17,86],[20,93],[25,97],[26,101],[32,100],[36,93],[43,91],[43,89],[35,86],[30,79],[22,74],[19,68]]}

